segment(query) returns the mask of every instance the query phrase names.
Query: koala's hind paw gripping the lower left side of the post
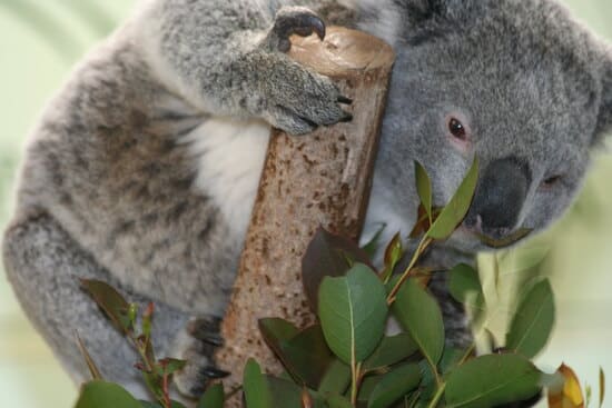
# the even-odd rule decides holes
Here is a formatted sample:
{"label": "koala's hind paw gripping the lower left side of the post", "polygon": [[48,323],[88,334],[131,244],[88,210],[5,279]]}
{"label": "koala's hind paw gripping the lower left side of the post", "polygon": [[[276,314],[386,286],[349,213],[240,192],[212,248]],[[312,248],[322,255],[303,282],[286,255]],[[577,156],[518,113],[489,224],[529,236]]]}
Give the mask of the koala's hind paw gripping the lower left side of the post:
{"label": "koala's hind paw gripping the lower left side of the post", "polygon": [[228,376],[213,361],[215,349],[223,346],[219,325],[218,318],[193,319],[177,339],[177,354],[187,365],[174,379],[187,397],[199,398],[210,380]]}

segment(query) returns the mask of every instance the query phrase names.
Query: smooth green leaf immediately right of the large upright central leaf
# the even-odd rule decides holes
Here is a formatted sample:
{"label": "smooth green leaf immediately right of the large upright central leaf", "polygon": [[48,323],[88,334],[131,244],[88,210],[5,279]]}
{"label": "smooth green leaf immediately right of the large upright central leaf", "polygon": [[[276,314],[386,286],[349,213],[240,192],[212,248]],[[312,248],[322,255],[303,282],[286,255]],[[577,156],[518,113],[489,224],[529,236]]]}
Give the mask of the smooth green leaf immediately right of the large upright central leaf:
{"label": "smooth green leaf immediately right of the large upright central leaf", "polygon": [[432,367],[444,350],[444,324],[435,298],[415,279],[408,279],[393,303],[393,311]]}

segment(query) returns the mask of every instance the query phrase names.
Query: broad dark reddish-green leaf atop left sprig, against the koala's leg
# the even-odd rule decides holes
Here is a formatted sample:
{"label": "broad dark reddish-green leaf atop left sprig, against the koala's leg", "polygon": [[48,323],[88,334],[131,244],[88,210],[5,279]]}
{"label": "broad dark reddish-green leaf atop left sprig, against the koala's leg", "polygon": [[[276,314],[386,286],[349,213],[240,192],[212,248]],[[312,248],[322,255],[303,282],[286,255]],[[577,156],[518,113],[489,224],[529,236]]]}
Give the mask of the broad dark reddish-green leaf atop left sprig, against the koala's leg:
{"label": "broad dark reddish-green leaf atop left sprig, against the koala's leg", "polygon": [[90,279],[81,279],[81,286],[106,312],[119,331],[128,334],[132,330],[129,317],[130,305],[115,288],[101,280]]}

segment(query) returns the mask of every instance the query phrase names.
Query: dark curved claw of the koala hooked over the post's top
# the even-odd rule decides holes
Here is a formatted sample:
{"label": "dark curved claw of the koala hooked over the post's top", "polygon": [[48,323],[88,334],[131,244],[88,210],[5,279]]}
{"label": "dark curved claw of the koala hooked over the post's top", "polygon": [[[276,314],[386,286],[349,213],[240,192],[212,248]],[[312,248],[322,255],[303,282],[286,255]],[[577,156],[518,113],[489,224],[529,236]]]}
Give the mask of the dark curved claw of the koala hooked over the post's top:
{"label": "dark curved claw of the koala hooked over the post's top", "polygon": [[287,52],[292,48],[290,36],[308,37],[316,33],[323,40],[325,31],[325,22],[315,12],[305,7],[285,7],[276,14],[268,42],[278,51]]}

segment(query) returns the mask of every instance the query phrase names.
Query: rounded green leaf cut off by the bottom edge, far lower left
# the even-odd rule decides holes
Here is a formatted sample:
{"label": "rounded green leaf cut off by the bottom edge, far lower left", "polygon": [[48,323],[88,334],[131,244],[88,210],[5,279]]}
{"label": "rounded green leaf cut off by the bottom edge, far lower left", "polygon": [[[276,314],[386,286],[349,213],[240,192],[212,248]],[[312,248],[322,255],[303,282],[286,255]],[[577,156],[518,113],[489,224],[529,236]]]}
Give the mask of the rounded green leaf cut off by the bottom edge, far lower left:
{"label": "rounded green leaf cut off by the bottom edge, far lower left", "polygon": [[117,384],[95,380],[81,387],[75,408],[142,408],[142,406]]}

